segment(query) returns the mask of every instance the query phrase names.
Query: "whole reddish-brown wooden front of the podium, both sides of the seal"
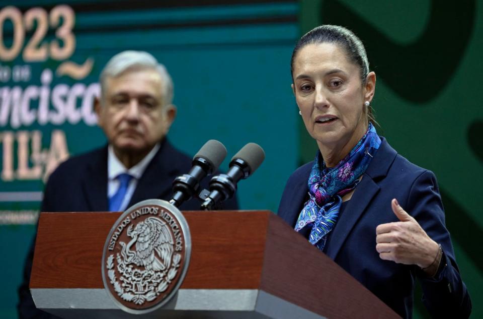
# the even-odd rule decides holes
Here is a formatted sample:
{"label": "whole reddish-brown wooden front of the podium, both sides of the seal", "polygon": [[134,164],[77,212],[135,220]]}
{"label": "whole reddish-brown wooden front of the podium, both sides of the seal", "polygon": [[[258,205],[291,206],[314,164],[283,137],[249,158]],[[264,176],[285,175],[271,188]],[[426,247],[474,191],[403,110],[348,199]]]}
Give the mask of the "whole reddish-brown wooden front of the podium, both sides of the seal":
{"label": "whole reddish-brown wooden front of the podium, both sides of the seal", "polygon": [[[269,211],[183,212],[192,251],[185,289],[256,289]],[[102,250],[121,213],[42,213],[30,288],[103,288]]]}

